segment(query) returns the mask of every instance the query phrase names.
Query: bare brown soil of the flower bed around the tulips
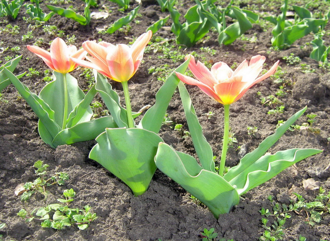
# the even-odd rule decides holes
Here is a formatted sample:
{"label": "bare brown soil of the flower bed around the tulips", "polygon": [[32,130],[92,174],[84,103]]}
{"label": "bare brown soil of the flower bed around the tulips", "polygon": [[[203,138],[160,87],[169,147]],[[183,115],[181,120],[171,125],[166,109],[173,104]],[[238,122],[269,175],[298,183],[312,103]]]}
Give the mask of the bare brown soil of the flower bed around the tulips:
{"label": "bare brown soil of the flower bed around the tulips", "polygon": [[[83,11],[82,2],[74,0],[73,7]],[[67,7],[67,5],[60,5]],[[85,40],[102,40],[114,44],[128,44],[133,36],[137,37],[159,18],[164,18],[168,13],[162,13],[155,1],[144,1],[139,10],[139,23],[132,22],[132,28],[128,31],[116,31],[114,34],[99,33],[98,28],[103,28],[113,23],[126,13],[119,12],[117,5],[110,1],[100,1],[99,8],[106,5],[112,13],[107,19],[92,20],[90,26],[82,26],[71,19],[53,16],[47,24],[56,25],[63,30],[65,35],[75,35],[76,46],[81,46]],[[179,10],[185,13],[186,6],[191,6],[189,1],[184,2],[185,7]],[[130,9],[136,7],[137,3],[131,5]],[[179,5],[178,5],[179,6]],[[129,9],[129,10],[130,10]],[[45,9],[46,12],[48,12]],[[97,12],[97,8],[92,8],[92,12]],[[104,10],[103,10],[104,11]],[[269,10],[271,11],[271,10]],[[276,11],[275,11],[276,12]],[[19,35],[1,33],[1,47],[9,49],[0,54],[0,59],[4,62],[5,56],[15,56],[16,53],[10,48],[19,46],[17,54],[22,54],[23,58],[17,66],[16,72],[24,72],[29,67],[40,71],[40,76],[24,76],[21,81],[27,85],[32,92],[39,93],[45,86],[42,80],[44,70],[48,69],[46,64],[29,52],[25,45],[32,45],[37,38],[43,38],[43,48],[49,48],[48,43],[57,34],[46,34],[42,25],[37,26],[32,34],[33,38],[27,42],[21,41],[21,35],[26,34],[29,23],[23,20],[27,18],[23,9],[20,10],[16,20],[0,18],[0,27],[4,28],[7,24],[18,25]],[[30,24],[34,25],[34,22]],[[175,37],[170,31],[170,23],[155,33],[168,39],[175,45]],[[329,26],[327,26],[328,28]],[[218,46],[217,36],[210,32],[203,41],[198,42],[194,47],[181,49],[181,52],[189,54],[192,51],[201,53],[201,47],[210,47],[216,50],[216,54],[207,55],[210,61],[224,61],[230,65],[234,62],[240,63],[244,59],[249,60],[251,56],[262,54],[267,57],[265,68],[277,60],[281,60],[280,66],[284,71],[283,78],[291,80],[293,85],[287,86],[287,93],[281,97],[285,105],[282,114],[269,115],[267,111],[270,107],[260,103],[262,97],[275,95],[279,90],[279,84],[274,82],[274,78],[268,78],[253,86],[241,100],[231,105],[230,125],[231,131],[235,133],[237,143],[233,148],[229,148],[226,165],[237,165],[239,159],[247,152],[255,149],[258,144],[270,134],[274,133],[278,120],[286,120],[292,114],[308,106],[307,114],[317,115],[314,128],[319,128],[319,133],[309,132],[308,130],[288,131],[270,149],[271,153],[293,147],[318,148],[324,151],[318,155],[302,160],[296,164],[295,168],[288,168],[275,178],[252,189],[240,203],[233,207],[229,214],[224,214],[218,220],[212,213],[202,205],[197,205],[190,198],[189,193],[180,187],[179,184],[170,180],[160,171],[156,171],[148,191],[142,196],[135,197],[131,190],[114,175],[88,158],[88,153],[96,143],[94,140],[74,143],[72,145],[58,146],[56,149],[45,144],[39,137],[37,131],[37,116],[33,113],[28,104],[19,98],[14,86],[10,85],[2,91],[2,102],[0,102],[0,223],[6,223],[6,227],[1,230],[6,240],[201,240],[200,232],[204,228],[215,228],[218,238],[234,240],[257,240],[263,232],[261,216],[259,210],[264,208],[271,209],[267,200],[269,195],[275,197],[280,203],[289,204],[292,199],[292,192],[302,194],[308,201],[313,201],[318,190],[306,190],[303,181],[313,178],[319,181],[320,185],[330,190],[330,74],[318,67],[315,60],[309,58],[310,46],[305,43],[313,39],[311,35],[300,39],[290,46],[287,50],[270,50],[271,28],[263,31],[259,25],[254,25],[245,36],[257,37],[255,43],[246,40],[237,40],[229,46]],[[329,37],[326,37],[329,45]],[[282,59],[294,53],[302,59],[300,63],[308,64],[315,69],[314,73],[303,73],[300,64],[287,65]],[[149,74],[151,66],[160,66],[168,63],[170,67],[179,66],[183,62],[173,63],[166,58],[158,58],[159,53],[149,51],[145,53],[144,62],[138,72],[129,82],[130,95],[133,111],[139,110],[147,104],[154,103],[156,91],[162,85],[161,81],[156,80],[156,75]],[[86,89],[88,83],[80,77],[83,68],[73,71],[72,74],[78,79],[82,89]],[[121,85],[113,83],[114,88],[123,97]],[[191,95],[192,102],[196,109],[197,116],[203,127],[204,135],[210,142],[214,155],[219,157],[222,148],[223,135],[223,106],[208,98],[197,87],[187,86]],[[123,99],[123,98],[121,98]],[[5,102],[4,100],[8,100]],[[102,101],[100,97],[96,100]],[[204,113],[213,111],[214,115],[208,119]],[[183,113],[181,100],[178,93],[175,93],[169,108],[168,117],[178,124],[183,124],[186,128],[186,120]],[[301,125],[307,122],[306,115],[302,116],[296,124]],[[247,133],[247,126],[258,128],[255,137],[250,137]],[[195,155],[192,141],[190,138],[183,139],[178,132],[174,131],[172,125],[163,125],[160,136],[163,140],[171,144],[176,150],[191,155]],[[239,149],[238,146],[241,146]],[[217,158],[218,160],[219,158]],[[37,160],[43,160],[49,164],[49,173],[67,172],[70,179],[62,186],[51,187],[46,204],[57,202],[64,189],[73,188],[77,196],[73,202],[74,206],[82,207],[89,205],[92,212],[96,212],[98,219],[93,221],[85,230],[71,226],[65,230],[54,230],[51,228],[41,228],[37,222],[25,223],[16,213],[21,208],[33,210],[45,206],[42,196],[32,197],[26,207],[20,198],[14,195],[15,187],[20,183],[33,181],[35,179],[33,164]],[[328,168],[327,168],[328,167]],[[272,217],[268,218],[273,222]],[[314,227],[305,223],[306,214],[300,215],[292,213],[292,218],[288,219],[284,225],[284,240],[295,240],[302,235],[307,240],[330,240],[330,216]],[[217,239],[218,240],[218,239]]]}

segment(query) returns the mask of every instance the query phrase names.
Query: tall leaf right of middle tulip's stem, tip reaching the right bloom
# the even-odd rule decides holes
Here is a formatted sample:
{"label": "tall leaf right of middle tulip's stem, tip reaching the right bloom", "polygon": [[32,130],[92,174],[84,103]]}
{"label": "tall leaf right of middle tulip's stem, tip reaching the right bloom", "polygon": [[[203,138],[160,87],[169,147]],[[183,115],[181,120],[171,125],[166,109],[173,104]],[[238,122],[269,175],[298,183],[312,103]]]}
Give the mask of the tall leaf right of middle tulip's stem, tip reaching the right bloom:
{"label": "tall leaf right of middle tulip's stem, tip reaching the right bloom", "polygon": [[175,71],[183,74],[188,67],[189,61],[190,59],[184,61],[178,68],[176,68],[166,79],[165,83],[159,88],[156,93],[155,104],[151,106],[142,117],[139,123],[139,128],[152,131],[156,134],[159,132],[167,107],[172,99],[174,91],[177,89],[178,83],[180,82]]}

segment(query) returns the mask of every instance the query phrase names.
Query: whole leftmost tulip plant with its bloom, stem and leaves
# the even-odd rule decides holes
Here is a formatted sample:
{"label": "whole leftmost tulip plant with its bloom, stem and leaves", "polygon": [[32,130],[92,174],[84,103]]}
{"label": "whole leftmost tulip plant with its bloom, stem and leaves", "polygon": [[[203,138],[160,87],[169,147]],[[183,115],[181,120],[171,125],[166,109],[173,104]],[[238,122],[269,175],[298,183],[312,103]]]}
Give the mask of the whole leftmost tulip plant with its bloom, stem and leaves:
{"label": "whole leftmost tulip plant with its bloom, stem and leaves", "polygon": [[61,38],[52,41],[50,52],[37,46],[28,45],[27,48],[53,70],[53,80],[39,95],[32,93],[9,69],[4,71],[39,117],[38,131],[45,143],[55,148],[58,145],[87,141],[95,139],[106,127],[117,127],[112,116],[91,120],[93,112],[89,104],[97,92],[95,86],[85,95],[78,81],[69,74],[78,67],[70,57],[84,59],[87,54],[84,49],[77,51],[76,46],[67,46]]}

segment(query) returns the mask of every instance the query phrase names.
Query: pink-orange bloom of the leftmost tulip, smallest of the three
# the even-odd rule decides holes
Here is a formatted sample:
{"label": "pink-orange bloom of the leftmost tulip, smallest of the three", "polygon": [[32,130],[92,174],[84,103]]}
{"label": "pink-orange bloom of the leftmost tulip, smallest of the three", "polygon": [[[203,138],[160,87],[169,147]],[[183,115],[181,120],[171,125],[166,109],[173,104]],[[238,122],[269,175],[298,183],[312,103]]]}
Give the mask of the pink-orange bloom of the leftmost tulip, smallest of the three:
{"label": "pink-orange bloom of the leftmost tulip, smallest of the three", "polygon": [[63,39],[55,38],[50,44],[50,53],[38,46],[26,46],[28,50],[42,58],[49,68],[52,70],[66,74],[78,67],[78,64],[73,62],[70,57],[83,60],[87,54],[86,51],[74,45],[67,46]]}

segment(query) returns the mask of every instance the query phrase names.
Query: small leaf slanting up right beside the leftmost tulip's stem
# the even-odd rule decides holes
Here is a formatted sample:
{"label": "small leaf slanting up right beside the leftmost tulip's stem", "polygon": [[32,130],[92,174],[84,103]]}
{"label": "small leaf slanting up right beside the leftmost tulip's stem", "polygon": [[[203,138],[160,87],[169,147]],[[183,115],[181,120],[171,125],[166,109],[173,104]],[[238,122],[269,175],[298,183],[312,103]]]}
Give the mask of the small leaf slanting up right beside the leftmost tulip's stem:
{"label": "small leaf slanting up right beside the leftmost tulip's stem", "polygon": [[67,128],[73,127],[81,122],[89,121],[93,116],[93,111],[89,104],[94,99],[96,95],[95,84],[90,88],[90,90],[85,95],[84,99],[80,101],[79,104],[70,112],[67,119]]}

